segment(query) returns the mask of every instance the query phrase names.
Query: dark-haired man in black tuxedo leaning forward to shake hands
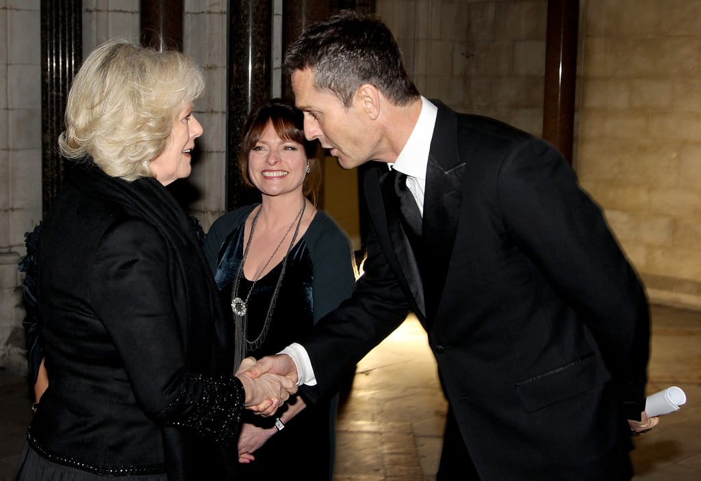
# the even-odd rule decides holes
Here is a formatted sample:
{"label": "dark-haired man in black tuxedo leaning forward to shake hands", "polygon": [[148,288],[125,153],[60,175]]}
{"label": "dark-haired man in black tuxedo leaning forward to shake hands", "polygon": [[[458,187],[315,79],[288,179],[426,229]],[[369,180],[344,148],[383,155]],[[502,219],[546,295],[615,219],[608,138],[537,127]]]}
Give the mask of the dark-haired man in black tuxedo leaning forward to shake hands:
{"label": "dark-haired man in black tuxedo leaning forward to shake hands", "polygon": [[343,12],[285,57],[305,134],[363,179],[365,274],[311,337],[263,358],[333,389],[421,321],[449,401],[438,480],[627,480],[649,308],[601,209],[542,139],[421,97],[386,25]]}

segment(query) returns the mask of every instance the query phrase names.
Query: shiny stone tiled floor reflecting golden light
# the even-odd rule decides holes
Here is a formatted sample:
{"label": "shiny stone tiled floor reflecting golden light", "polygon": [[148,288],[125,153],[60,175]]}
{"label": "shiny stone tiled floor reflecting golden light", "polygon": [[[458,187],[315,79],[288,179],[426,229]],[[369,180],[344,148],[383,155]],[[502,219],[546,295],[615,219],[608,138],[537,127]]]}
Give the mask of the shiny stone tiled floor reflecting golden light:
{"label": "shiny stone tiled floor reflecting golden light", "polygon": [[[701,312],[653,307],[649,371],[650,393],[676,385],[688,401],[636,438],[634,480],[701,480]],[[11,479],[28,403],[24,380],[0,370],[0,481]],[[339,412],[334,480],[435,480],[445,410],[426,335],[410,317],[358,364]]]}

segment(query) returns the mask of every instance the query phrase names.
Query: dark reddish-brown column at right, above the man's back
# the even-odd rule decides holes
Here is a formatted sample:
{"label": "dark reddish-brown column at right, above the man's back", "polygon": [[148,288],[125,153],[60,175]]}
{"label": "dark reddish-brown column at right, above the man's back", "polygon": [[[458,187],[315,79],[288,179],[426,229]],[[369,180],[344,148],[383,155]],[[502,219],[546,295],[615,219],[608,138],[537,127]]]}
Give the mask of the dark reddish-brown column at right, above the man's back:
{"label": "dark reddish-brown column at right, above the man's back", "polygon": [[579,0],[547,1],[543,139],[572,163]]}

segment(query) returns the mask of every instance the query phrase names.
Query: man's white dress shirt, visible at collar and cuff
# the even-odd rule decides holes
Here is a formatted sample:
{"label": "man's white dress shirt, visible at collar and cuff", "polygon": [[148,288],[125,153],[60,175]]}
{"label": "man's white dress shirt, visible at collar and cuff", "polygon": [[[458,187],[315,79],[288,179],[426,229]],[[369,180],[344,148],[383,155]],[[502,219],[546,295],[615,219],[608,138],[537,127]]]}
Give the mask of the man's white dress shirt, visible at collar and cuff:
{"label": "man's white dress shirt, visible at collar and cuff", "polygon": [[[394,163],[388,163],[389,169],[407,174],[407,188],[414,196],[418,210],[423,217],[423,196],[426,189],[426,167],[428,166],[428,152],[430,151],[431,139],[433,139],[433,128],[435,127],[438,108],[426,99],[421,97],[421,113],[418,114],[414,130],[404,148],[397,156]],[[280,354],[287,354],[297,366],[297,385],[316,385],[316,377],[312,368],[309,355],[306,349],[297,342],[285,347]]]}

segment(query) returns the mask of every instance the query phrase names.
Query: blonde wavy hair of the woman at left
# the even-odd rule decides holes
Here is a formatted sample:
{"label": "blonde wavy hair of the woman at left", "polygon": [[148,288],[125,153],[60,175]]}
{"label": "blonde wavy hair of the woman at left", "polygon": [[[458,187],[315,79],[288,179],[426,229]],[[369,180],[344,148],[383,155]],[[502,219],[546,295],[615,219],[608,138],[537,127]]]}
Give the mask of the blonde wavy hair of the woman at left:
{"label": "blonde wavy hair of the woman at left", "polygon": [[175,116],[202,95],[204,85],[183,53],[107,41],[74,78],[60,151],[73,160],[89,156],[105,174],[126,181],[151,176],[148,162],[163,152]]}

